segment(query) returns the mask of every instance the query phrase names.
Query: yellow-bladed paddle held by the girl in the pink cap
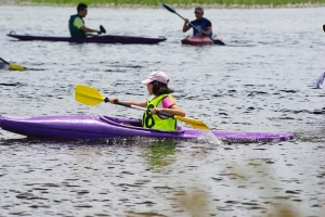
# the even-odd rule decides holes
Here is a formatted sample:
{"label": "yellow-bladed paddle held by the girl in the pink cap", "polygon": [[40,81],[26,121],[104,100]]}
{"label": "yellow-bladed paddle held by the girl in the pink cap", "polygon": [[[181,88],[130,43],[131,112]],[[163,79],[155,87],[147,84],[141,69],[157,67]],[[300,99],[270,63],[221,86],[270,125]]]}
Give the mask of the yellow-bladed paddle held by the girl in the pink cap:
{"label": "yellow-bladed paddle held by the girl in the pink cap", "polygon": [[[109,99],[104,98],[100,91],[98,91],[96,89],[94,89],[92,87],[86,86],[86,85],[77,85],[76,86],[75,99],[76,99],[76,101],[78,101],[82,104],[87,104],[87,105],[91,105],[91,106],[98,105],[102,102],[109,102]],[[145,107],[140,107],[136,105],[131,105],[131,104],[127,104],[127,103],[122,103],[122,102],[116,102],[115,104],[122,105],[126,107],[132,107],[132,108],[136,108],[136,110],[146,111]],[[199,119],[191,119],[187,117],[171,115],[171,114],[161,113],[161,112],[158,112],[158,114],[167,116],[167,117],[173,117],[176,119],[186,123],[187,125],[190,125],[191,127],[196,128],[196,129],[209,130],[209,127]]]}

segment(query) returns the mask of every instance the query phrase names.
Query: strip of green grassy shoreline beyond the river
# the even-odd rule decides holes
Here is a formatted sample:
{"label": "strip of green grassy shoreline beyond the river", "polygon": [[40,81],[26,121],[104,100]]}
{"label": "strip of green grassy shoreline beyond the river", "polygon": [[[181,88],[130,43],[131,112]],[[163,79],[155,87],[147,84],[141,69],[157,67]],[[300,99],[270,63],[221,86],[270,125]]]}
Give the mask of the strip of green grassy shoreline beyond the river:
{"label": "strip of green grassy shoreline beyond the river", "polygon": [[[158,8],[159,0],[2,0],[0,5],[77,5],[79,2],[90,7]],[[263,8],[317,8],[325,7],[325,0],[165,0],[174,8],[218,9],[263,9]]]}

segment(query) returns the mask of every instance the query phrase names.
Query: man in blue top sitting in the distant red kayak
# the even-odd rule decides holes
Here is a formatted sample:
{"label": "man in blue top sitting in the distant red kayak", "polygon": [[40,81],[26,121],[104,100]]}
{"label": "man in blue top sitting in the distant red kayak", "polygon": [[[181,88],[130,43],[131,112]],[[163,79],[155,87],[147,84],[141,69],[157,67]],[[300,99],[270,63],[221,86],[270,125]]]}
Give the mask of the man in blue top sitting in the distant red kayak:
{"label": "man in blue top sitting in the distant red kayak", "polygon": [[204,15],[204,10],[200,7],[195,8],[194,10],[196,20],[192,21],[188,23],[188,20],[184,20],[184,25],[183,25],[183,33],[187,31],[190,28],[195,26],[196,28],[193,28],[193,35],[194,36],[208,36],[212,37],[212,25],[211,22],[205,17]]}

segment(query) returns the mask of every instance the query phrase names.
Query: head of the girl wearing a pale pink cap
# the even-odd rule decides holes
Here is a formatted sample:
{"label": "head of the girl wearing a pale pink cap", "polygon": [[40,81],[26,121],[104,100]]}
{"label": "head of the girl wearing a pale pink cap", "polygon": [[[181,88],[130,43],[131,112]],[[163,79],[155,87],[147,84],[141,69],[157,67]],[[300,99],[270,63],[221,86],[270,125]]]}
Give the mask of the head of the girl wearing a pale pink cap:
{"label": "head of the girl wearing a pale pink cap", "polygon": [[157,97],[160,94],[169,94],[173,92],[172,89],[168,88],[168,76],[160,71],[153,72],[147,77],[147,79],[142,81],[143,85],[146,85],[150,94],[154,94]]}

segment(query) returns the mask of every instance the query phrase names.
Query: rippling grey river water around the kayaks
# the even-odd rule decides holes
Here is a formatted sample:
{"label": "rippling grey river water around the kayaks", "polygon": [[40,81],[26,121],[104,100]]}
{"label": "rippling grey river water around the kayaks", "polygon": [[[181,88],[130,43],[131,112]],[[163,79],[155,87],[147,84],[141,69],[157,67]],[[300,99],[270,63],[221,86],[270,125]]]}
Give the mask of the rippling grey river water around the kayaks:
{"label": "rippling grey river water around the kayaks", "polygon": [[[193,18],[192,9],[178,9]],[[1,216],[323,216],[325,213],[324,8],[207,9],[226,46],[188,47],[165,9],[89,8],[107,34],[165,36],[159,44],[16,41],[68,36],[75,7],[0,7],[0,114],[140,118],[120,106],[74,99],[77,84],[144,101],[140,85],[169,75],[178,104],[213,129],[292,132],[266,143],[29,140],[0,130]],[[323,20],[322,20],[323,18]]]}

